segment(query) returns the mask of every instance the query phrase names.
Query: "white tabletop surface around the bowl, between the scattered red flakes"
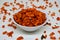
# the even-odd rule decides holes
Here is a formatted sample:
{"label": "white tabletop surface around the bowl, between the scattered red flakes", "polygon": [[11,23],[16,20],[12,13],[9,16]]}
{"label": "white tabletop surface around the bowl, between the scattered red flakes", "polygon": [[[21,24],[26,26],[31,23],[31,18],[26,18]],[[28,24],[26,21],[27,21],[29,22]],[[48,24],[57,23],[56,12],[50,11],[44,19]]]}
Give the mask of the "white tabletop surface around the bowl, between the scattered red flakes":
{"label": "white tabletop surface around the bowl, between the scattered red flakes", "polygon": [[[13,0],[0,0],[0,8],[2,7],[2,4],[5,1],[14,2]],[[20,1],[21,0],[18,0],[17,2],[20,2]],[[22,1],[24,1],[24,4],[25,4],[25,2],[28,1],[28,0],[22,0]],[[53,3],[55,0],[49,0],[49,1]],[[56,0],[56,1],[58,2],[58,4],[60,4],[60,0]],[[39,3],[36,3],[36,2],[33,2],[33,3],[36,4],[37,6],[39,6],[39,5],[45,5],[45,3],[43,2],[43,0],[40,0]],[[28,2],[27,5],[30,6],[29,2]],[[8,11],[9,11],[10,8],[11,7],[6,7],[6,9]],[[54,17],[54,19],[52,19],[52,17],[50,15],[48,16],[48,19],[51,20],[50,21],[50,23],[52,24],[51,26],[55,25],[56,22],[58,23],[57,25],[60,26],[60,22],[56,21],[56,17],[60,16],[60,13],[58,12],[59,9],[60,9],[60,5],[59,5],[58,8],[56,8],[56,6],[54,5],[52,8],[47,7],[46,10],[41,10],[40,9],[40,11],[45,12],[47,14],[49,13],[48,12],[49,10],[52,11],[52,12],[55,12],[56,16]],[[15,11],[15,12],[17,12],[17,11]],[[10,13],[13,14],[15,12],[10,12]],[[2,18],[2,16],[3,16],[3,14],[0,14],[0,18]],[[46,40],[50,40],[49,34],[51,32],[55,33],[55,36],[57,38],[56,40],[58,40],[58,37],[60,37],[60,34],[57,32],[57,30],[59,30],[60,28],[53,30],[51,28],[51,26],[43,26],[39,30],[37,30],[35,32],[25,32],[22,29],[20,29],[19,27],[17,27],[17,29],[14,30],[13,28],[7,26],[7,24],[9,23],[7,20],[12,15],[11,16],[6,15],[6,16],[7,16],[7,19],[6,19],[5,22],[2,22],[2,19],[0,20],[0,40],[4,40],[4,39],[6,39],[6,40],[16,40],[16,38],[19,37],[19,36],[23,36],[24,40],[35,40],[35,38],[38,38],[39,40],[41,40],[41,35],[43,34],[44,30],[46,30],[47,35],[48,35],[48,37],[46,38]],[[5,25],[5,28],[1,28],[1,26],[3,24]],[[7,35],[3,35],[2,32],[6,31],[6,30],[7,31],[14,31],[13,36],[12,37],[8,37]]]}

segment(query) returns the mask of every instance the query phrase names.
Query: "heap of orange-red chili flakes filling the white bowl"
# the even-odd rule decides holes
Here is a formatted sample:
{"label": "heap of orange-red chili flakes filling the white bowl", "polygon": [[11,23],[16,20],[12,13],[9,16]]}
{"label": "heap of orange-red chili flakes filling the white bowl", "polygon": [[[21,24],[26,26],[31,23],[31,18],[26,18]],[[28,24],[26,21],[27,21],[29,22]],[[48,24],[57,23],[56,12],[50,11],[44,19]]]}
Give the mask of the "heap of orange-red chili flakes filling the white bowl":
{"label": "heap of orange-red chili flakes filling the white bowl", "polygon": [[29,27],[41,25],[46,21],[45,13],[40,12],[35,8],[22,9],[14,14],[13,18],[16,23]]}

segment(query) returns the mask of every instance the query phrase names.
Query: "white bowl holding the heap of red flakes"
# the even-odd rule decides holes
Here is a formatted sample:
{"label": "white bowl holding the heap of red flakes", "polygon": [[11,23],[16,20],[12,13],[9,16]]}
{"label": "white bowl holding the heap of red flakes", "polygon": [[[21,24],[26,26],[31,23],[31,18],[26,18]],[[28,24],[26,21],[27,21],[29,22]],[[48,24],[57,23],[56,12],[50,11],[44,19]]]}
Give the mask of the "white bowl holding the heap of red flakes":
{"label": "white bowl holding the heap of red flakes", "polygon": [[[47,15],[46,15],[46,18],[47,18]],[[12,17],[12,19],[13,19],[13,17]],[[25,30],[25,31],[35,31],[35,30],[37,30],[37,29],[40,29],[40,27],[42,27],[42,26],[47,22],[47,19],[46,19],[46,21],[45,21],[43,24],[41,24],[41,25],[39,25],[39,26],[35,26],[35,27],[22,26],[22,25],[16,23],[14,19],[13,19],[13,22],[14,22],[17,26],[19,26],[21,29],[23,29],[23,30]]]}

